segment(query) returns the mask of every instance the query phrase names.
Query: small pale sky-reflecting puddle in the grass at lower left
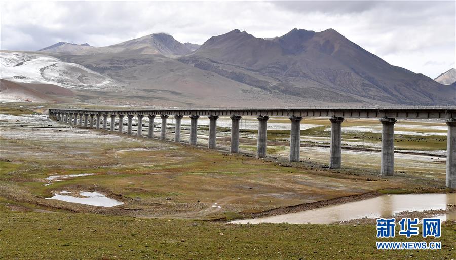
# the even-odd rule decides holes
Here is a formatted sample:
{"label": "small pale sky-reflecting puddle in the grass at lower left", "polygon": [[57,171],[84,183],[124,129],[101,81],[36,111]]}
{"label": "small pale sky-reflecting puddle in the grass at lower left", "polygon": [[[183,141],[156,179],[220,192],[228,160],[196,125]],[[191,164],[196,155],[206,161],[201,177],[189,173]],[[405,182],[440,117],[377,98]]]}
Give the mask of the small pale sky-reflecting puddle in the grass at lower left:
{"label": "small pale sky-reflecting puddle in the grass at lower left", "polygon": [[[68,193],[68,192],[60,192],[60,193]],[[86,204],[92,206],[100,206],[100,207],[114,207],[118,205],[124,204],[121,201],[117,201],[115,199],[110,199],[104,196],[101,193],[97,192],[80,192],[79,195],[85,198],[73,197],[71,195],[60,195],[54,193],[54,196],[51,198],[46,198],[47,200],[60,200],[72,203],[79,203],[79,204]]]}

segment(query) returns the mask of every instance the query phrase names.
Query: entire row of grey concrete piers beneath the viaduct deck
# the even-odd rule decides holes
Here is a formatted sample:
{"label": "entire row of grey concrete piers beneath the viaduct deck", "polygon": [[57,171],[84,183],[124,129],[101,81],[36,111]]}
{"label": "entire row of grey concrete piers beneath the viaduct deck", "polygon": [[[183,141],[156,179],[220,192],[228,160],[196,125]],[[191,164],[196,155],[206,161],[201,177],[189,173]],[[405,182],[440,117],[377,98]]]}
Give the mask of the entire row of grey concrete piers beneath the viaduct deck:
{"label": "entire row of grey concrete piers beneath the viaduct deck", "polygon": [[[88,128],[103,129],[109,131],[115,131],[115,119],[118,117],[119,125],[118,131],[123,132],[123,120],[127,117],[127,134],[132,134],[133,118],[137,117],[138,127],[137,135],[142,136],[142,119],[144,115],[134,114],[86,114],[86,113],[61,113],[56,112],[53,115],[58,121],[72,123],[74,125],[84,126]],[[108,117],[110,117],[109,129],[107,128]],[[154,137],[154,120],[156,115],[147,115],[149,119],[148,124],[148,137]],[[161,118],[161,133],[160,139],[166,139],[166,125],[169,115],[160,115]],[[103,120],[101,120],[103,118]],[[180,142],[180,129],[182,115],[174,115],[175,119],[175,131],[174,141]],[[197,144],[197,128],[199,115],[189,115],[190,118],[190,138],[189,144]],[[216,148],[216,135],[217,135],[217,119],[219,116],[209,115],[209,138],[208,148]],[[232,153],[239,152],[239,133],[240,133],[240,120],[241,116],[232,115],[231,129],[231,147]],[[78,121],[79,119],[79,121]],[[267,156],[267,122],[269,116],[258,116],[258,137],[257,137],[257,157],[264,158]],[[290,157],[291,162],[299,162],[300,154],[300,123],[302,121],[301,116],[290,116],[291,121],[291,133],[290,133]],[[341,154],[342,154],[342,122],[343,117],[330,117],[331,121],[331,143],[330,143],[330,168],[341,167]],[[381,150],[381,167],[380,174],[384,176],[390,176],[394,173],[394,124],[396,123],[395,118],[381,118],[382,123],[382,150]],[[100,123],[103,123],[101,126]],[[95,124],[95,126],[94,126]],[[446,185],[450,188],[456,189],[456,120],[449,119],[446,121],[448,125],[448,141],[447,141],[447,159],[446,159]]]}

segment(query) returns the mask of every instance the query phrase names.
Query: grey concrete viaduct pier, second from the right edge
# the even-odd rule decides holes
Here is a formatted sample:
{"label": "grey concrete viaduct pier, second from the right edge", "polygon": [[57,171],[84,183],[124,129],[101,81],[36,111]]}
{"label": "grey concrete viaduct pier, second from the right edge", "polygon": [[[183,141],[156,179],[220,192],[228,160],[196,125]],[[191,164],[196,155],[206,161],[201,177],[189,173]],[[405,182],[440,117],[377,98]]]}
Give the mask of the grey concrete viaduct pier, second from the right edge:
{"label": "grey concrete viaduct pier, second from the right edge", "polygon": [[382,118],[382,165],[380,174],[392,176],[394,173],[394,124],[395,118]]}

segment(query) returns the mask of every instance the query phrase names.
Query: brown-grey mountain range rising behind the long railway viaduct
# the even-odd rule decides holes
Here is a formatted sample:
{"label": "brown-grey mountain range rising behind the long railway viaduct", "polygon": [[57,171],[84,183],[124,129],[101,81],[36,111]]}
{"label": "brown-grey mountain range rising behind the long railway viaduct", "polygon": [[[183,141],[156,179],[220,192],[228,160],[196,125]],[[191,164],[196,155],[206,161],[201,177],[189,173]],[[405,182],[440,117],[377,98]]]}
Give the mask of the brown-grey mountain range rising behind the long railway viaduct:
{"label": "brown-grey mountain range rising behind the long railway viaduct", "polygon": [[[70,44],[78,48],[69,51],[56,49],[59,46],[14,54],[50,57],[90,71],[77,72],[85,79],[84,88],[75,88],[78,84],[73,81],[68,86],[82,102],[142,106],[456,104],[456,85],[443,85],[390,65],[333,29],[295,28],[268,39],[236,29],[213,36],[201,46],[180,43],[166,33],[98,48]],[[12,53],[2,51],[2,55]],[[2,66],[2,70],[13,70],[15,65]],[[11,77],[5,78],[4,74],[3,79],[14,82],[27,77],[8,72]],[[87,84],[100,79],[97,75],[105,77],[110,87]],[[65,87],[62,82],[56,85]]]}

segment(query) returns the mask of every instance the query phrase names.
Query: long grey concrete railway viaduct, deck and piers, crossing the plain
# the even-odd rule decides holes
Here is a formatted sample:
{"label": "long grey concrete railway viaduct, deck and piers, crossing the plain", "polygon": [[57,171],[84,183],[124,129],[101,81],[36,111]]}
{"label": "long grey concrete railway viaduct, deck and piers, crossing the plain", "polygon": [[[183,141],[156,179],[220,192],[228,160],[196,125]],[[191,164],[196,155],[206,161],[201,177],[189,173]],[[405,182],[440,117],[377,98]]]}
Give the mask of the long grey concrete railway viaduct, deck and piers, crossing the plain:
{"label": "long grey concrete railway viaduct, deck and piers, crossing the plain", "polygon": [[[299,162],[300,122],[305,117],[326,117],[331,121],[330,167],[341,167],[341,124],[344,118],[378,118],[382,123],[382,158],[380,173],[388,176],[394,172],[394,124],[396,119],[440,119],[448,125],[446,186],[456,189],[456,106],[426,107],[302,107],[302,108],[192,108],[153,110],[89,110],[49,109],[54,119],[74,125],[114,131],[115,119],[119,119],[118,131],[123,132],[124,118],[127,117],[127,134],[132,134],[132,119],[137,117],[137,135],[142,136],[142,119],[147,116],[148,137],[154,136],[154,119],[161,118],[160,138],[166,138],[166,124],[169,116],[175,118],[174,141],[180,142],[180,122],[184,116],[191,119],[190,145],[197,143],[198,118],[209,118],[209,149],[216,148],[217,119],[230,117],[231,152],[239,152],[239,121],[242,117],[258,119],[257,156],[266,157],[268,120],[270,117],[288,117],[291,123],[290,161]],[[78,121],[79,119],[79,121]],[[101,123],[103,125],[101,125]]]}

